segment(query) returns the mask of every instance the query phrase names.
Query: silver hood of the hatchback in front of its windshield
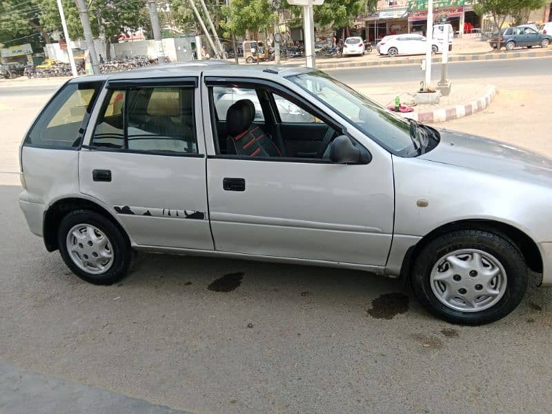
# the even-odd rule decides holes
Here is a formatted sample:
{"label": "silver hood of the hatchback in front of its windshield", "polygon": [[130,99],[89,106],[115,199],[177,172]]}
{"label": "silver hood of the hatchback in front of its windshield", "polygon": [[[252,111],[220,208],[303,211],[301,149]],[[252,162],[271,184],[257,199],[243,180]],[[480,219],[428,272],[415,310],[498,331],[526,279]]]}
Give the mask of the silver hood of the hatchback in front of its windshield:
{"label": "silver hood of the hatchback in front of its windshield", "polygon": [[420,158],[552,187],[552,160],[493,139],[439,130],[441,141]]}

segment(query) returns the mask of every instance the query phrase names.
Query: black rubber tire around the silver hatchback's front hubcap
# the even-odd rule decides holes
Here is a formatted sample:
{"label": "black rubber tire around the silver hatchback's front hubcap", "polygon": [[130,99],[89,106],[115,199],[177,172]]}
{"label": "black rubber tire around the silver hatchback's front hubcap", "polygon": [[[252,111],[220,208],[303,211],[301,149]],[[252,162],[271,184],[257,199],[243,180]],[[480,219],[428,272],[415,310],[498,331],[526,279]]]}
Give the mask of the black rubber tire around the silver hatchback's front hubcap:
{"label": "black rubber tire around the silver hatchback's front hubcap", "polygon": [[[455,250],[477,249],[493,255],[502,264],[507,283],[500,300],[483,311],[464,312],[443,304],[431,288],[431,271],[437,261]],[[527,288],[524,258],[508,238],[485,230],[455,230],[431,240],[415,258],[412,286],[420,303],[436,317],[452,324],[481,325],[508,315],[520,304]]]}

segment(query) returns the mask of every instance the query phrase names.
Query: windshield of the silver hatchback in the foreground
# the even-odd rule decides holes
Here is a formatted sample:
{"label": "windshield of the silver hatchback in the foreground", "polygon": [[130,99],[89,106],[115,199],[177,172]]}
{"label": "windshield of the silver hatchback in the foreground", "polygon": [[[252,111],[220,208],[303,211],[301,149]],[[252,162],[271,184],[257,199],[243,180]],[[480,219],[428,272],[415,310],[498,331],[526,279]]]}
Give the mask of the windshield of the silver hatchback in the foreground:
{"label": "windshield of the silver hatchback in the foreground", "polygon": [[[415,157],[429,150],[426,148],[429,140],[420,140],[420,133],[417,131],[424,126],[416,123],[413,127],[406,119],[326,73],[309,72],[292,75],[288,79],[351,121],[355,127],[392,154]],[[435,134],[436,132],[431,132],[434,142],[438,139]]]}

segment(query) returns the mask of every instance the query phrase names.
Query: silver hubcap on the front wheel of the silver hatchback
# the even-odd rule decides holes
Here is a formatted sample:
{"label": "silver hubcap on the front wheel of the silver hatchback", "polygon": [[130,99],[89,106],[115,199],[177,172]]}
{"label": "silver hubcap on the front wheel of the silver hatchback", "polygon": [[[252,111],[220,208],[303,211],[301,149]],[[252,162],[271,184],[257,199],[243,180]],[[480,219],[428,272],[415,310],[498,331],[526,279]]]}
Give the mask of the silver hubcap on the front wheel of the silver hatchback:
{"label": "silver hubcap on the front wheel of the silver hatchback", "polygon": [[435,297],[449,308],[479,312],[504,295],[506,271],[496,257],[482,250],[455,250],[433,266],[430,282]]}

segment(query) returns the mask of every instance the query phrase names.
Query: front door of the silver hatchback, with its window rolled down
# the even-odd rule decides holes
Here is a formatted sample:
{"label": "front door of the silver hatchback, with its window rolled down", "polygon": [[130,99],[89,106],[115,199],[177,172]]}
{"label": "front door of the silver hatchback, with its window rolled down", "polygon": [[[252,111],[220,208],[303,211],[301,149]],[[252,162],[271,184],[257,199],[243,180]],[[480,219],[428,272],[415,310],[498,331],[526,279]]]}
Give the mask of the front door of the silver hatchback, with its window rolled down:
{"label": "front door of the silver hatchback, with its window rolled down", "polygon": [[[242,155],[217,150],[208,157],[208,198],[215,249],[384,266],[393,231],[391,155],[378,155],[366,165],[331,164],[327,155],[317,155],[326,152],[321,148],[326,131],[339,128],[324,121],[322,113],[292,101],[293,92],[279,90],[276,95],[260,84],[241,86],[239,81],[225,81],[229,82],[228,88],[256,90],[264,125],[253,126],[248,132],[244,124],[244,132],[237,133],[237,139],[228,137],[235,139],[237,145],[248,147],[239,151]],[[221,85],[207,80],[207,86],[204,101],[215,106],[210,111],[213,113],[219,105],[213,95],[207,94]],[[224,114],[217,115],[224,118]],[[253,115],[251,118],[253,121]],[[226,122],[233,121],[226,118]],[[238,122],[242,123],[242,119]],[[226,139],[217,137],[217,129],[213,128],[215,148],[217,141]],[[238,132],[235,125],[226,129]],[[246,137],[250,133],[251,138],[243,140],[244,133]],[[277,155],[243,155],[255,155],[257,151],[251,148],[261,141],[278,147],[273,151]]]}

